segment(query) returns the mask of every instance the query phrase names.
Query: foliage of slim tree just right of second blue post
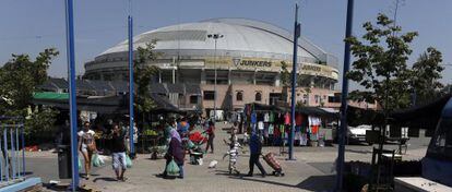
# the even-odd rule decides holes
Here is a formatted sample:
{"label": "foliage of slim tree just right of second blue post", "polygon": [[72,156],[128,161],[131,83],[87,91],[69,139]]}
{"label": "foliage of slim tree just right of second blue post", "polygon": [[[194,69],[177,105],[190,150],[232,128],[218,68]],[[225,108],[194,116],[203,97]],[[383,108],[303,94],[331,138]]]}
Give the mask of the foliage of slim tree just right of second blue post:
{"label": "foliage of slim tree just right of second blue post", "polygon": [[134,60],[134,83],[136,84],[136,109],[141,112],[150,112],[155,104],[150,97],[150,84],[152,79],[158,74],[159,69],[150,65],[150,61],[157,59],[159,53],[153,51],[156,41],[146,44],[146,47],[138,48],[138,58]]}

